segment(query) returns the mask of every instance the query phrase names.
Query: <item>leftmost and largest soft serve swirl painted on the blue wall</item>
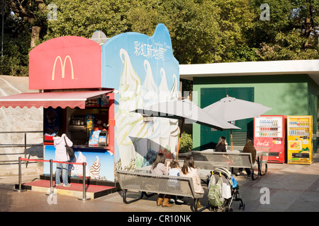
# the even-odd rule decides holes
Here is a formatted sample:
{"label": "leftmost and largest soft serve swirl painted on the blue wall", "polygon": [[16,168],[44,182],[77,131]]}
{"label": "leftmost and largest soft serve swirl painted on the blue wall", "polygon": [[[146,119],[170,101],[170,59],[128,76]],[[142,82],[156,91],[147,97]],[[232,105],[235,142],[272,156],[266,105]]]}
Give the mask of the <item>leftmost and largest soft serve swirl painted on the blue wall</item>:
{"label": "leftmost and largest soft serve swirl painted on the blue wall", "polygon": [[137,157],[135,148],[138,148],[140,138],[146,136],[147,129],[143,123],[142,114],[130,112],[143,105],[140,77],[134,71],[125,49],[120,50],[120,57],[123,62],[123,73],[119,87],[118,112],[116,113],[116,141],[122,167],[125,167]]}

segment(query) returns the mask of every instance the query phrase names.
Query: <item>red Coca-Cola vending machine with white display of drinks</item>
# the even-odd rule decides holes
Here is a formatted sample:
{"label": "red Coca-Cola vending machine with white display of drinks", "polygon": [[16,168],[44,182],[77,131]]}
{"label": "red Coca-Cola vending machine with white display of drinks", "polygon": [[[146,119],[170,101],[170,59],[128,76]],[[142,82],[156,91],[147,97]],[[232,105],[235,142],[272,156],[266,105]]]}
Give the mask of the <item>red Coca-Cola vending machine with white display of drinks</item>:
{"label": "red Coca-Cola vending machine with white display of drinks", "polygon": [[268,147],[268,162],[286,160],[286,130],[284,115],[261,115],[254,118],[254,146]]}

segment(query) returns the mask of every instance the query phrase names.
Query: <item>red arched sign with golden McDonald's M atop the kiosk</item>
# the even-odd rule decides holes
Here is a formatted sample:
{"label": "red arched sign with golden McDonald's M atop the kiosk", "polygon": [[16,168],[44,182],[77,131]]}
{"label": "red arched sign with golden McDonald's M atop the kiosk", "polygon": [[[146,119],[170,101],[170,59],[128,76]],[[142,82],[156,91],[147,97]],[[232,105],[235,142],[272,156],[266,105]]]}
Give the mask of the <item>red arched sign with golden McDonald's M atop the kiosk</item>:
{"label": "red arched sign with golden McDonald's M atop the kiosk", "polygon": [[29,89],[101,88],[101,46],[85,37],[47,40],[29,53]]}

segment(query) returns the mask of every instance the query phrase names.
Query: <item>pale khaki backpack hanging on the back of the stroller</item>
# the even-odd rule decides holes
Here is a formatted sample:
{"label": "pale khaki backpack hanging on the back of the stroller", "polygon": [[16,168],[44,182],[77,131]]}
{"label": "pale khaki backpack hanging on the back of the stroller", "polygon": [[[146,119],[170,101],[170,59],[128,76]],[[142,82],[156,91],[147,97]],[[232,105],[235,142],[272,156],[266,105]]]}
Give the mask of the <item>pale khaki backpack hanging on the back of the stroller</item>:
{"label": "pale khaki backpack hanging on the back of the stroller", "polygon": [[[216,182],[217,180],[217,182]],[[211,176],[208,189],[208,201],[212,206],[223,206],[225,198],[222,196],[223,179],[218,175]]]}

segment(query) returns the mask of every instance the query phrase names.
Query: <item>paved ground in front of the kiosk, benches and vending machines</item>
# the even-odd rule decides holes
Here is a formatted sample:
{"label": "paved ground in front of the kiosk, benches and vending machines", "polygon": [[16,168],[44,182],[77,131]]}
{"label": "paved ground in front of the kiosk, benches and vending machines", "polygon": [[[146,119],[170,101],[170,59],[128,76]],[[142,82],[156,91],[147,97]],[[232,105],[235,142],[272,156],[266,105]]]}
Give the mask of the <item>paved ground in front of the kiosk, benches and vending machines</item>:
{"label": "paved ground in front of the kiosk, benches and vending machines", "polygon": [[[26,176],[23,177],[23,182],[30,182],[36,178],[38,177]],[[301,214],[300,212],[319,211],[319,152],[315,154],[313,165],[269,163],[267,174],[260,179],[252,181],[245,175],[235,177],[235,179],[240,185],[239,191],[245,203],[245,210],[239,210],[239,202],[233,202],[233,212],[296,212]],[[13,184],[17,184],[17,181],[16,177],[0,178],[0,212],[126,212],[120,219],[124,222],[129,221],[133,215],[135,218],[140,216],[142,213],[139,212],[152,212],[153,218],[154,216],[159,217],[159,214],[172,214],[172,212],[198,218],[198,214],[191,213],[189,204],[174,205],[172,208],[157,207],[155,205],[156,196],[128,205],[123,203],[121,192],[94,200],[80,201],[75,197],[63,195],[51,197],[35,191],[13,191]],[[190,202],[189,199],[186,201]],[[204,198],[201,203],[206,203],[206,201]],[[208,213],[213,214],[209,210],[204,210],[199,214],[207,216]],[[107,216],[110,216],[110,213]]]}

